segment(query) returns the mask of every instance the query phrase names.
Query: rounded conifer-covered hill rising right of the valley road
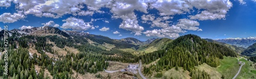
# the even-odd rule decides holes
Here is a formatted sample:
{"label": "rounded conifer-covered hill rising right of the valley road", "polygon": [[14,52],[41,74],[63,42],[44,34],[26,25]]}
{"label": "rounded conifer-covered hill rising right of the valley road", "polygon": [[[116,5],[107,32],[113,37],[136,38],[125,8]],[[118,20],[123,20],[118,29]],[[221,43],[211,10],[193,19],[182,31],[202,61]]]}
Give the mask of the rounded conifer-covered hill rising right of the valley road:
{"label": "rounded conifer-covered hill rising right of the valley road", "polygon": [[[169,43],[166,49],[145,54],[140,58],[144,63],[160,58],[156,65],[144,68],[145,74],[152,74],[163,69],[168,70],[175,66],[183,67],[184,70],[197,74],[198,70],[195,70],[195,66],[207,63],[212,67],[217,67],[223,56],[236,57],[237,54],[225,46],[207,42],[194,34],[187,34]],[[193,75],[194,73],[190,74],[192,78],[196,78]]]}

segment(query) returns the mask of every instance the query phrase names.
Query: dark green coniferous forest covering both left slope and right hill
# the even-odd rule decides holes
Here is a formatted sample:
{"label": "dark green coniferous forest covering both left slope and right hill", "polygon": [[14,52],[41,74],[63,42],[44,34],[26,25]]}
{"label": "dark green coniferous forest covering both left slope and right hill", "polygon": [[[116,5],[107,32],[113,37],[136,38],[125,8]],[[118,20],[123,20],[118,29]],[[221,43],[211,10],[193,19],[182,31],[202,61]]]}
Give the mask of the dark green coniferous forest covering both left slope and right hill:
{"label": "dark green coniferous forest covering both left slope and right hill", "polygon": [[[72,76],[74,71],[80,74],[103,71],[109,66],[106,61],[134,63],[141,59],[143,63],[148,64],[159,58],[160,60],[157,61],[156,65],[144,67],[143,73],[149,75],[158,72],[155,77],[162,77],[162,70],[183,67],[184,70],[190,72],[191,78],[210,78],[207,72],[198,70],[195,66],[206,63],[211,67],[217,67],[223,56],[237,56],[234,51],[227,47],[207,42],[194,34],[181,36],[169,43],[164,49],[140,56],[118,49],[105,51],[89,44],[87,40],[78,35],[72,35],[72,37],[68,35],[66,37],[57,35],[15,37],[13,35],[8,40],[10,44],[8,53],[9,76],[12,78],[49,78],[44,76],[45,69],[49,70],[53,78],[74,78]],[[58,52],[52,49],[53,44],[47,43],[48,41],[54,42],[58,48],[73,47],[79,53],[74,54],[68,51],[65,56],[58,55]],[[4,46],[1,45],[1,47]],[[30,55],[28,51],[30,47],[34,47],[40,55]],[[57,58],[49,57],[47,52],[57,55]],[[4,65],[3,59],[4,57],[0,60],[2,65]],[[38,74],[35,72],[35,65],[41,66]],[[0,74],[7,77],[3,75],[3,69],[4,67],[0,66]]]}

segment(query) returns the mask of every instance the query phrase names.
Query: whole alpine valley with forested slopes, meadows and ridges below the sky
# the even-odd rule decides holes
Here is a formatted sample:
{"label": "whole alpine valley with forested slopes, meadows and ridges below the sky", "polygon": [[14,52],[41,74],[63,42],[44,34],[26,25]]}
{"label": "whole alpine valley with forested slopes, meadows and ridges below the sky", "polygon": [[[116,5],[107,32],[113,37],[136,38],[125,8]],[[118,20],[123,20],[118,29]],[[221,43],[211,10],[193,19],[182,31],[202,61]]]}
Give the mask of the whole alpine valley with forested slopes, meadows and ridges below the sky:
{"label": "whole alpine valley with forested slopes, meadows and ridges below the sky", "polygon": [[[222,43],[227,39],[215,41],[187,34],[176,39],[151,38],[141,42],[133,37],[111,39],[49,26],[13,29],[8,33],[10,68],[7,76],[0,66],[3,77],[142,78],[130,71],[106,71],[121,70],[141,60],[142,68],[138,69],[146,78],[232,78],[240,67],[238,57],[246,63],[238,77],[256,77],[256,65],[245,60],[246,56],[255,55],[255,44],[245,49],[229,45],[229,41]],[[4,30],[0,35],[3,37]],[[0,63],[4,64],[2,55]]]}

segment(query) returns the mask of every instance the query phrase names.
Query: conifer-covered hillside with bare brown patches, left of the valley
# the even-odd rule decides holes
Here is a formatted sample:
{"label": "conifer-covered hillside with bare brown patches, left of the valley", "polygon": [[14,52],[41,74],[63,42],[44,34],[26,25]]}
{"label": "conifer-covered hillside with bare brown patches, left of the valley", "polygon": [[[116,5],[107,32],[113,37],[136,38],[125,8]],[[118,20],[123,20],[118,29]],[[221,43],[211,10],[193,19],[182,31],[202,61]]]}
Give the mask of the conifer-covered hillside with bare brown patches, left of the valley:
{"label": "conifer-covered hillside with bare brown patches, left of the valley", "polygon": [[[2,36],[3,31],[1,33]],[[10,33],[12,35],[8,37],[8,76],[12,76],[12,78],[47,78],[48,76],[44,76],[45,70],[48,70],[50,72],[49,76],[53,78],[75,78],[76,76],[73,75],[74,72],[85,74],[103,71],[103,68],[109,66],[108,62],[105,61],[129,63],[138,61],[136,55],[117,49],[112,49],[111,51],[103,50],[95,45],[89,44],[83,36],[79,35],[63,36],[61,33],[65,32],[60,32],[60,34],[58,34],[59,32],[53,32],[58,35],[46,36]],[[4,51],[3,42],[0,41],[2,52]],[[53,44],[48,42],[52,42]],[[60,49],[64,49],[65,47],[74,48],[79,53],[75,54],[65,49],[67,54],[59,55],[61,52],[53,49],[54,45]],[[28,51],[29,49],[35,49],[38,54],[30,53]],[[53,55],[54,57],[50,57],[49,55]],[[1,57],[0,64],[2,65],[0,66],[0,76],[3,76],[3,65],[5,65],[4,56]],[[36,71],[38,66],[40,66],[40,69]],[[6,77],[6,75],[3,76],[3,78]]]}

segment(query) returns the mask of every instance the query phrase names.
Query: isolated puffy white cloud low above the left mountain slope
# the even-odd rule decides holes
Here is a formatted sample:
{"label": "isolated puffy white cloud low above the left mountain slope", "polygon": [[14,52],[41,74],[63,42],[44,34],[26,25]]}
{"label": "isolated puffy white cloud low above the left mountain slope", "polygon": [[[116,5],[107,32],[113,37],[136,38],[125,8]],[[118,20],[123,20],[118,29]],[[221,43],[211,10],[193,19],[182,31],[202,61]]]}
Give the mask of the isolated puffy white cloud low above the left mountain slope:
{"label": "isolated puffy white cloud low above the left mountain slope", "polygon": [[75,17],[69,17],[62,21],[66,21],[66,23],[63,23],[61,26],[61,28],[63,29],[70,28],[73,30],[81,31],[81,30],[88,30],[88,29],[94,28],[93,25],[91,25],[91,22],[86,23],[82,19],[77,19]]}

